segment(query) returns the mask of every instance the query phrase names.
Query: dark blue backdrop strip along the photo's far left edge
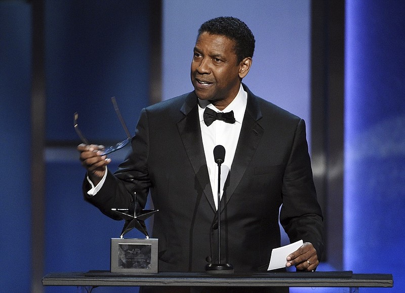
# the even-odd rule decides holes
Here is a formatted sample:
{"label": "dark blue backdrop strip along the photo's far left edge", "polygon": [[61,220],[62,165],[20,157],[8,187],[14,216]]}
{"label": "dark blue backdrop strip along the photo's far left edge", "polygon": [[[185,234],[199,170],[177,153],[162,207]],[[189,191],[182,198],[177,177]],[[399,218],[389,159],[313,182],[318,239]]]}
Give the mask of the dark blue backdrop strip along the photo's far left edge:
{"label": "dark blue backdrop strip along the photo's far left edge", "polygon": [[29,292],[31,7],[0,2],[0,291]]}

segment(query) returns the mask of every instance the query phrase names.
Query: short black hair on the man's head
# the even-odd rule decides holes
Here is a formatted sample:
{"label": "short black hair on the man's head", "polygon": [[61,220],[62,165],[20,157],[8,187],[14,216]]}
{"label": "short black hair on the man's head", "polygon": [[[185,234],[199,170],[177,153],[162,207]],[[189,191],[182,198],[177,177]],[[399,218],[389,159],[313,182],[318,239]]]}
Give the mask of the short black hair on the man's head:
{"label": "short black hair on the man's head", "polygon": [[245,22],[230,16],[213,18],[201,24],[197,39],[201,33],[224,35],[235,41],[235,54],[239,63],[246,57],[253,57],[255,36]]}

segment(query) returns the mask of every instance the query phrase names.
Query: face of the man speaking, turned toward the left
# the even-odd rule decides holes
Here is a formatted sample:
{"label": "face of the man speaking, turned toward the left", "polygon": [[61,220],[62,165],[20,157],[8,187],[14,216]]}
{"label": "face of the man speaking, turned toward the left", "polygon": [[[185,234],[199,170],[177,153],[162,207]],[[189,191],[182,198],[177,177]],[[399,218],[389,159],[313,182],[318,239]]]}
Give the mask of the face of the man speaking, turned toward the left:
{"label": "face of the man speaking, turned toward the left", "polygon": [[198,37],[191,62],[191,82],[201,100],[223,109],[239,91],[241,63],[233,50],[234,41],[223,35],[203,32]]}

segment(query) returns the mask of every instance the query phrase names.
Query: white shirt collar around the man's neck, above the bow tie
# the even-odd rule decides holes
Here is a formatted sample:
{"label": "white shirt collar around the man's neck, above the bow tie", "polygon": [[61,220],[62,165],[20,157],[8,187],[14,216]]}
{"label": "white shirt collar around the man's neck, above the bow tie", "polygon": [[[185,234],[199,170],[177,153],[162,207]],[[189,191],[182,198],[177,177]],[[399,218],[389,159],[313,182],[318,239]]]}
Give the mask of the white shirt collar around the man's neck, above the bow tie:
{"label": "white shirt collar around the man's neck, above the bow tie", "polygon": [[204,110],[206,107],[214,110],[215,112],[230,112],[233,111],[233,115],[235,117],[236,122],[242,123],[242,120],[245,116],[246,105],[248,102],[248,93],[242,87],[240,83],[239,92],[237,93],[236,97],[233,101],[223,110],[218,110],[213,104],[209,101],[198,99],[198,115],[199,121],[204,121]]}

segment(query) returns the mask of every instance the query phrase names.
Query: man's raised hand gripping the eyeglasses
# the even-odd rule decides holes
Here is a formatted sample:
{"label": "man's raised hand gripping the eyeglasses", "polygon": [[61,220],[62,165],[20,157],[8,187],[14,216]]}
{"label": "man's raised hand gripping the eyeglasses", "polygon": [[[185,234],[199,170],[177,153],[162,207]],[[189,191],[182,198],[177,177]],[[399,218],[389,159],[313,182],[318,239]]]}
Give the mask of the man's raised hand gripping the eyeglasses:
{"label": "man's raised hand gripping the eyeglasses", "polygon": [[97,185],[105,174],[105,166],[111,162],[106,155],[101,156],[104,149],[102,145],[80,144],[77,150],[80,152],[80,161],[87,170],[87,175],[94,185]]}

